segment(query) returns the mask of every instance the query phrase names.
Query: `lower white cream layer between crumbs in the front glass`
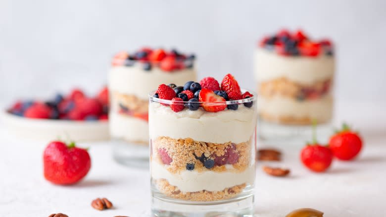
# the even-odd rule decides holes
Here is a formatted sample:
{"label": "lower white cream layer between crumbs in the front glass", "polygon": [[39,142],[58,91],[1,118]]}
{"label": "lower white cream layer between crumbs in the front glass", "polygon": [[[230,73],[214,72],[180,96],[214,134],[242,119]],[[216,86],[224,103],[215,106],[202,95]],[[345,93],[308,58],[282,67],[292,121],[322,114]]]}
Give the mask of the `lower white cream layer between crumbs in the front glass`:
{"label": "lower white cream layer between crumbs in the front glass", "polygon": [[[232,165],[229,165],[233,167]],[[242,172],[231,171],[214,172],[184,170],[177,174],[170,173],[164,165],[151,162],[151,177],[153,179],[166,179],[169,184],[177,186],[183,193],[201,190],[222,191],[243,183],[253,184],[255,179],[255,166],[251,165]]]}

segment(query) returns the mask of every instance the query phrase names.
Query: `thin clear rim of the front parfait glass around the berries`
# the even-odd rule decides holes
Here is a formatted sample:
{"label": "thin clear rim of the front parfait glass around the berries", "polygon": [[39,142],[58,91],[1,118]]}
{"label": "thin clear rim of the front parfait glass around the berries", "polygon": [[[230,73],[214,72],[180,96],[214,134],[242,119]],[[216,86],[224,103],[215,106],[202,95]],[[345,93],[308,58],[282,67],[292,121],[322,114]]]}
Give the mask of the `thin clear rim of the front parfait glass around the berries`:
{"label": "thin clear rim of the front parfait glass around the berries", "polygon": [[[246,91],[248,91],[250,94],[252,94],[253,97],[249,97],[249,98],[245,98],[245,99],[241,99],[241,100],[225,101],[226,105],[243,104],[243,103],[248,103],[248,102],[255,102],[257,100],[257,93],[254,92],[254,91],[248,90],[248,89],[241,89],[241,92],[245,93]],[[156,90],[153,90],[153,91],[151,91],[151,92],[149,92],[147,94],[147,96],[148,96],[148,98],[149,98],[149,100],[151,102],[167,104],[167,105],[172,104],[171,100],[164,100],[164,99],[159,99],[159,98],[153,97],[155,92],[156,92]],[[188,103],[187,101],[176,101],[176,102]],[[206,104],[208,106],[210,106],[210,105],[215,106],[215,105],[224,104],[224,102],[191,102],[191,103],[193,103],[193,104]]]}

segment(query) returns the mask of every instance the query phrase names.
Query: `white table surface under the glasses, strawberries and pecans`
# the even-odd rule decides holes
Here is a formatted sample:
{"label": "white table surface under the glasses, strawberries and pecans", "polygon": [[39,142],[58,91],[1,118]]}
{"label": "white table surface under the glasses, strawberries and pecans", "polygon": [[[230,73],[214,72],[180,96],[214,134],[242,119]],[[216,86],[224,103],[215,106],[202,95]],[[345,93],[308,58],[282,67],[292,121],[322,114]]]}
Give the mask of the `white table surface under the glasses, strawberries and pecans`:
{"label": "white table surface under the glasses, strawberries and pecans", "polygon": [[[302,146],[281,146],[291,169],[289,177],[266,175],[258,163],[256,217],[284,217],[297,208],[315,208],[326,217],[382,217],[386,201],[386,104],[374,102],[337,104],[337,122],[346,120],[364,137],[365,146],[354,162],[334,161],[322,174],[307,170],[298,155]],[[109,143],[82,143],[90,147],[92,168],[73,186],[50,184],[43,176],[42,153],[46,142],[23,141],[0,125],[0,217],[141,217],[149,214],[149,174],[115,163]],[[264,146],[260,142],[259,146]],[[97,211],[90,204],[106,197],[114,209]]]}

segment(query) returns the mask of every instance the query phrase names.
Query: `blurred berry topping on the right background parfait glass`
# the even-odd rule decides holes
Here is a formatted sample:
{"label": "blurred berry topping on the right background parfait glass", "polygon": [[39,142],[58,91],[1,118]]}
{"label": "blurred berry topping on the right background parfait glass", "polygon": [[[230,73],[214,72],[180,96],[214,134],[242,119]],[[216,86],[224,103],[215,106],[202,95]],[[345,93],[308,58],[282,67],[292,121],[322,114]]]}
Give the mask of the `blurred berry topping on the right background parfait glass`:
{"label": "blurred berry topping on the right background parfait glass", "polygon": [[328,39],[313,41],[301,30],[293,33],[286,29],[277,34],[263,38],[260,47],[274,50],[281,55],[317,56],[319,54],[333,55],[333,44]]}

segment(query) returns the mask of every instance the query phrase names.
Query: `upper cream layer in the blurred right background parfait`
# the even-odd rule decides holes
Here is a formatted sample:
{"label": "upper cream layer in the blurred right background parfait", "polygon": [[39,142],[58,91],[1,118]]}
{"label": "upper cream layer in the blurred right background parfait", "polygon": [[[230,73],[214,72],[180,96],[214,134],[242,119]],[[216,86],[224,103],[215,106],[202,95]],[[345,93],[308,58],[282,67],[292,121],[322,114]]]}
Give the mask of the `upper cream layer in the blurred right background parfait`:
{"label": "upper cream layer in the blurred right background parfait", "polygon": [[255,78],[258,82],[286,77],[300,84],[312,85],[334,76],[335,57],[320,54],[311,56],[284,56],[257,48],[254,55]]}

